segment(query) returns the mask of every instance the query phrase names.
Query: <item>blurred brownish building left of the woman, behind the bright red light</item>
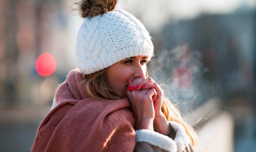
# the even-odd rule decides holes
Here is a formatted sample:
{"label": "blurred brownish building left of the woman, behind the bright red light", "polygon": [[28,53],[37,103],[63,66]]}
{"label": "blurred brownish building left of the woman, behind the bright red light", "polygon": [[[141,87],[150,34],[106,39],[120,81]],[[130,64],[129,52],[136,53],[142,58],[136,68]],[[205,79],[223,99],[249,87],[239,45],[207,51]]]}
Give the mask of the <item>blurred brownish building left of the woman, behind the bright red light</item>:
{"label": "blurred brownish building left of the woman, behind the bright red light", "polygon": [[[60,0],[0,1],[0,108],[45,104],[52,100],[56,85],[65,80],[67,63],[73,63],[66,4]],[[49,77],[56,80],[55,86],[46,93],[40,90],[45,78],[35,71],[35,60],[44,52],[51,53],[58,65]]]}

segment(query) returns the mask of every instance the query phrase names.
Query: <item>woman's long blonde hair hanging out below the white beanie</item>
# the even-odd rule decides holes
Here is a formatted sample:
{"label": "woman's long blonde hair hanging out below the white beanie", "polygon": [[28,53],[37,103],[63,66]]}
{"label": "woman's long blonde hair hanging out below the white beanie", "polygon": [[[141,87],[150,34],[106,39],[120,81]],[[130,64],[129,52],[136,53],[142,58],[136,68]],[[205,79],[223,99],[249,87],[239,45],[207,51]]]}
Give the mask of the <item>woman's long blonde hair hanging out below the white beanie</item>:
{"label": "woman's long blonde hair hanging out below the white beanie", "polygon": [[[98,100],[119,100],[125,98],[126,94],[122,95],[119,90],[114,90],[107,85],[105,81],[107,69],[84,75],[84,80],[80,82],[81,87],[87,90],[88,95]],[[146,69],[145,76],[148,77],[148,68]],[[180,113],[180,110],[165,95],[161,110],[168,121],[180,123],[185,128],[190,137],[191,144],[195,147],[197,140],[195,130],[184,121],[184,116]]]}

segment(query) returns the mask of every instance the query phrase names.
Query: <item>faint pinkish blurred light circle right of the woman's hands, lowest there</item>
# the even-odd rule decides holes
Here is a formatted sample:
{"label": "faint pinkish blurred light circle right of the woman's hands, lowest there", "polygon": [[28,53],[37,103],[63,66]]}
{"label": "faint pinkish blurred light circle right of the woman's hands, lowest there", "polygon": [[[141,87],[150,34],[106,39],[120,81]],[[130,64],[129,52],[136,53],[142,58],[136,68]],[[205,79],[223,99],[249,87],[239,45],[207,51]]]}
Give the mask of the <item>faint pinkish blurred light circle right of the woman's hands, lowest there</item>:
{"label": "faint pinkish blurred light circle right of the woman's hands, lowest there", "polygon": [[173,83],[179,88],[188,88],[193,81],[193,74],[187,67],[177,67],[172,74]]}

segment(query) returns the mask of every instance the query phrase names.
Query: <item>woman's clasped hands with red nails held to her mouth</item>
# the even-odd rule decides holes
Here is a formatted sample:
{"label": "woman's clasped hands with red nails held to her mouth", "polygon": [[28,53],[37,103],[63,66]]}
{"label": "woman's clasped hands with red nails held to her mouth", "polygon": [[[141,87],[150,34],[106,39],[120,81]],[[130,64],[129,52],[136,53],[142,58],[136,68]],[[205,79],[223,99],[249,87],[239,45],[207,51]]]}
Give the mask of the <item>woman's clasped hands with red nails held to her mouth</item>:
{"label": "woman's clasped hands with red nails held to her mouth", "polygon": [[164,92],[160,86],[151,77],[145,76],[128,81],[127,98],[136,120],[135,129],[168,134],[170,127],[161,110]]}

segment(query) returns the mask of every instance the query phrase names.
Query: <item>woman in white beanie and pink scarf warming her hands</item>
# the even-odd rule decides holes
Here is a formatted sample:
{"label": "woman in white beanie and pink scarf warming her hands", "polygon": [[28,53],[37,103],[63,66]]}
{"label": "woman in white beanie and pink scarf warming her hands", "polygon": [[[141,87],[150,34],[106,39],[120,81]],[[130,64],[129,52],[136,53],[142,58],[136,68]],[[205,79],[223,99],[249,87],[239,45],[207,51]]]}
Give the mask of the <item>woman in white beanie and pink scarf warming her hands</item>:
{"label": "woman in white beanie and pink scarf warming her hands", "polygon": [[195,131],[148,77],[144,25],[116,0],[76,4],[78,68],[56,89],[31,151],[195,151]]}

